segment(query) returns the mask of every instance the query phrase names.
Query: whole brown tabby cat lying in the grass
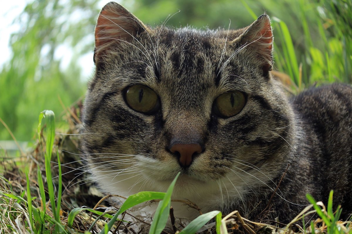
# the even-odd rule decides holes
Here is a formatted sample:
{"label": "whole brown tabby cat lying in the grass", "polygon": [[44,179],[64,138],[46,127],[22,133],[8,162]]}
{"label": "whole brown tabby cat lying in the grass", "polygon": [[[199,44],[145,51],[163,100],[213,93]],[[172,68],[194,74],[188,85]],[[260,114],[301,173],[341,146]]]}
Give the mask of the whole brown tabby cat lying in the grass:
{"label": "whole brown tabby cat lying in the grass", "polygon": [[[272,52],[266,14],[238,30],[152,28],[109,2],[82,114],[91,179],[127,197],[166,192],[181,172],[172,199],[284,223],[308,205],[307,193],[326,203],[334,189],[334,208],[348,218],[352,88],[289,97],[270,73]],[[179,218],[198,214],[172,206]]]}

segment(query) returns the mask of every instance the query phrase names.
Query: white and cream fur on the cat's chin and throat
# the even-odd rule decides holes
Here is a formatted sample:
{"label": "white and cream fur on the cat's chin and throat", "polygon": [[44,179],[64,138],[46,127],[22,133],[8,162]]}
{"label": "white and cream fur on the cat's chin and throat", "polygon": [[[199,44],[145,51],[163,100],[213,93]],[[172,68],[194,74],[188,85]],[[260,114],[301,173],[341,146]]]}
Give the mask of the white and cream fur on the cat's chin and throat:
{"label": "white and cream fur on the cat's chin and throat", "polygon": [[[104,177],[104,172],[97,172],[94,176],[98,178]],[[106,172],[106,174],[108,174]],[[137,182],[136,182],[137,181]],[[139,182],[138,182],[139,181]],[[170,185],[170,181],[151,180],[142,173],[120,174],[111,180],[96,181],[98,188],[103,192],[128,197],[141,191],[166,192]],[[178,178],[174,191],[172,193],[173,200],[179,202],[171,202],[174,208],[176,218],[194,219],[200,213],[197,209],[186,205],[187,202],[194,203],[202,213],[212,210],[224,210],[230,206],[230,203],[242,199],[244,193],[242,186],[234,186],[230,180],[218,179],[203,182],[182,174]],[[117,202],[123,202],[122,199],[115,199]],[[231,201],[231,202],[230,202]],[[225,205],[224,207],[224,204]],[[157,203],[145,202],[136,207],[137,210],[154,214]]]}

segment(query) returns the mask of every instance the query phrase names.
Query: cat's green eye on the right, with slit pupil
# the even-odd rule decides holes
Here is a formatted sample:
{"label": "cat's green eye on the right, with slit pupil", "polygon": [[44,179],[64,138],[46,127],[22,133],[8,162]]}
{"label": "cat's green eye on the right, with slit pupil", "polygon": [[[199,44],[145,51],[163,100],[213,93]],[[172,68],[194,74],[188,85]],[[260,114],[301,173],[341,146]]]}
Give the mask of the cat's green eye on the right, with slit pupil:
{"label": "cat's green eye on the right, with slit pupil", "polygon": [[222,117],[231,117],[240,113],[246,104],[246,97],[239,91],[230,91],[215,99],[214,107]]}

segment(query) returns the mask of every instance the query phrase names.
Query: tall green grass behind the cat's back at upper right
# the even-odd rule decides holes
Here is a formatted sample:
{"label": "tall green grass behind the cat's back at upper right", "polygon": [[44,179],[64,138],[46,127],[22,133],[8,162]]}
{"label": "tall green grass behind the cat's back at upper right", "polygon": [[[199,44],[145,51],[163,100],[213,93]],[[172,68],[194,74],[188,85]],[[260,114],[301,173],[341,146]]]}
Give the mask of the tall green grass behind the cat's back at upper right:
{"label": "tall green grass behind the cat's back at upper right", "polygon": [[[257,18],[251,7],[244,0],[241,2]],[[275,68],[290,76],[297,91],[316,83],[351,83],[352,1],[297,2],[300,11],[295,22],[302,31],[292,31],[286,22],[272,17]],[[314,25],[311,19],[315,19]],[[303,53],[298,50],[297,39],[296,44],[293,41],[293,34],[295,38],[296,34],[301,35]]]}

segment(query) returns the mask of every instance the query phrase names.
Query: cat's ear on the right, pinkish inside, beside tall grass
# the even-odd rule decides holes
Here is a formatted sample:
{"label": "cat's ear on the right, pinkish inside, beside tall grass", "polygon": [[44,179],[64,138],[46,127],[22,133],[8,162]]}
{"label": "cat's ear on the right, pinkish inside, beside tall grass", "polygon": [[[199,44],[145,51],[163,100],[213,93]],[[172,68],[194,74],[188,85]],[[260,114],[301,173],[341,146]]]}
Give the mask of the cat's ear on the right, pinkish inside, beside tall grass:
{"label": "cat's ear on the right, pinkish inside, beside tall grass", "polygon": [[263,74],[268,74],[273,63],[273,39],[270,18],[264,14],[259,16],[235,41],[255,53],[263,68]]}

